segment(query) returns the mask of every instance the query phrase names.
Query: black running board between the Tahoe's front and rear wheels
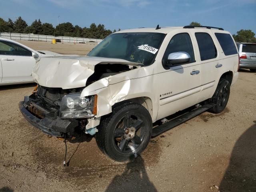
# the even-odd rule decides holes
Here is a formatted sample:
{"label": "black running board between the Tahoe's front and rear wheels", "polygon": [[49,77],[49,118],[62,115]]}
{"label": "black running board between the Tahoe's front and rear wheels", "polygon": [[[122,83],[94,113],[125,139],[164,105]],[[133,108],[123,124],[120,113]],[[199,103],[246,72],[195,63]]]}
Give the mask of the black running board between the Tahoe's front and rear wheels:
{"label": "black running board between the Tahoe's front and rear wheels", "polygon": [[152,130],[152,136],[151,137],[156,137],[184,122],[186,122],[187,120],[190,120],[191,118],[198,116],[199,114],[207,111],[208,109],[214,107],[214,104],[206,104],[203,106],[200,106],[194,110],[191,110],[189,112],[186,112],[185,114],[182,114],[176,118],[173,118],[172,120],[153,128]]}

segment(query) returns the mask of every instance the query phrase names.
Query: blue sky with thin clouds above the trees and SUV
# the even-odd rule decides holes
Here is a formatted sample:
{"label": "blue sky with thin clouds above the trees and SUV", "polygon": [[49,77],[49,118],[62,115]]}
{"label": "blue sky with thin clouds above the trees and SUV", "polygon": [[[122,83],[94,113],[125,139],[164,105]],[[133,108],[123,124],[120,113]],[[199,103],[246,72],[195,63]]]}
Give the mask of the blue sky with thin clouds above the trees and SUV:
{"label": "blue sky with thin clouds above the trees and SUV", "polygon": [[0,18],[21,16],[29,25],[39,19],[54,26],[71,22],[106,29],[186,26],[199,22],[232,34],[240,29],[256,33],[256,0],[0,0]]}

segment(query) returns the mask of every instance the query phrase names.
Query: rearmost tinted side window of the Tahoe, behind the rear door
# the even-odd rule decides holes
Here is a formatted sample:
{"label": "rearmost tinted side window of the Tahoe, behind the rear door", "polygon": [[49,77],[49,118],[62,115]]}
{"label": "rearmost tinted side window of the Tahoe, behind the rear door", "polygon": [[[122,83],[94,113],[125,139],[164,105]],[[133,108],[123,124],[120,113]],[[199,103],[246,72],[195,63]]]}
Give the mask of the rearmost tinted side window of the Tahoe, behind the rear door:
{"label": "rearmost tinted side window of the Tahoe, behind the rear door", "polygon": [[215,36],[218,39],[220,46],[225,55],[237,54],[236,46],[230,34],[215,33]]}

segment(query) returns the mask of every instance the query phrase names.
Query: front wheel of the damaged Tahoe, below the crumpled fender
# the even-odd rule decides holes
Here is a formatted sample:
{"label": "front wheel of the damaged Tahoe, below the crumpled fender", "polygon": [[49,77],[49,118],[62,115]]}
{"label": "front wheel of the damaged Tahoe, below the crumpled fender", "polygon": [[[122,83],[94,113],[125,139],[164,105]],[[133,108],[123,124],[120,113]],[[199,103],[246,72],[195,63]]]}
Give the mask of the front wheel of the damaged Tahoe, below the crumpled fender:
{"label": "front wheel of the damaged Tahoe, below the crumpled fender", "polygon": [[100,150],[118,162],[136,158],[148,145],[152,118],[143,106],[124,102],[102,118],[95,135]]}

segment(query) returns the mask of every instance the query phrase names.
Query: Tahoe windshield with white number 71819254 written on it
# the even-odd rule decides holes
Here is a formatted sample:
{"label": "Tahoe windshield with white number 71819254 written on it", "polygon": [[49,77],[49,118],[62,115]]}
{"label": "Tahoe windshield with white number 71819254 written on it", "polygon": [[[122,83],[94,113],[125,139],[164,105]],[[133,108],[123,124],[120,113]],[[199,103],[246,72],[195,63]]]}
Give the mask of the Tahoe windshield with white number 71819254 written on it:
{"label": "Tahoe windshield with white number 71819254 written on it", "polygon": [[162,33],[117,33],[105,38],[87,56],[119,58],[150,65],[161,46]]}

